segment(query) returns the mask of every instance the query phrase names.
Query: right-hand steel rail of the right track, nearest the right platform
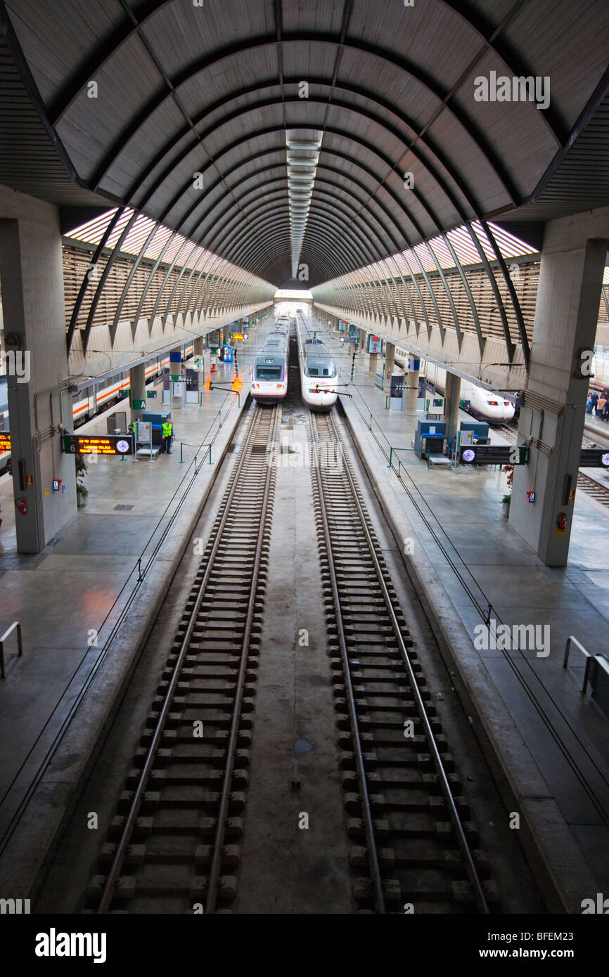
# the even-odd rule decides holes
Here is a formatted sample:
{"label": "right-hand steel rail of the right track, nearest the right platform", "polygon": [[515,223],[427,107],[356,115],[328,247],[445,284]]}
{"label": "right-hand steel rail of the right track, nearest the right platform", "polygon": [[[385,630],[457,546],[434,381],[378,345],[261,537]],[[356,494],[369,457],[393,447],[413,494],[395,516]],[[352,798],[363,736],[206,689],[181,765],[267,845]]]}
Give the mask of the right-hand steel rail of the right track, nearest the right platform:
{"label": "right-hand steel rail of the right track, nearest the right platform", "polygon": [[[333,433],[336,441],[339,444],[341,444],[341,440],[340,440],[340,436],[338,434],[338,430],[336,428],[336,424],[334,422],[333,417],[330,414],[327,414],[327,422],[328,422],[329,427],[332,430],[332,433]],[[478,872],[476,871],[476,866],[475,866],[475,863],[474,863],[473,855],[471,853],[471,849],[470,849],[469,844],[467,842],[467,838],[465,837],[465,831],[463,830],[463,826],[461,824],[461,819],[460,819],[459,814],[458,814],[458,811],[457,811],[457,804],[455,803],[455,798],[453,796],[453,791],[451,789],[451,784],[450,784],[450,781],[449,781],[447,772],[446,772],[446,770],[444,768],[444,763],[442,762],[442,756],[440,754],[440,751],[438,749],[438,745],[437,745],[436,740],[435,740],[435,737],[433,735],[433,730],[431,728],[431,723],[429,722],[429,718],[427,716],[427,712],[426,712],[426,709],[425,709],[425,704],[423,702],[422,696],[421,696],[420,691],[419,691],[419,688],[418,688],[418,683],[416,681],[416,675],[415,675],[414,670],[413,670],[413,665],[411,664],[411,660],[410,660],[410,658],[408,656],[408,651],[407,651],[406,645],[404,643],[404,638],[402,637],[402,632],[400,630],[400,624],[398,622],[398,618],[397,618],[397,616],[395,614],[395,611],[394,611],[394,608],[393,608],[393,603],[391,601],[391,596],[390,596],[389,591],[387,589],[387,584],[385,582],[384,574],[382,572],[382,569],[380,567],[380,564],[378,563],[378,558],[377,558],[377,555],[376,555],[376,548],[375,548],[375,546],[374,546],[374,544],[372,542],[372,538],[370,536],[370,530],[369,530],[368,525],[367,525],[367,522],[366,522],[366,517],[365,517],[364,509],[362,507],[362,503],[360,502],[360,499],[359,499],[359,496],[358,496],[358,492],[357,492],[357,489],[356,489],[356,485],[355,485],[355,480],[354,480],[353,474],[351,472],[350,462],[349,462],[349,459],[347,458],[346,454],[344,454],[343,456],[344,456],[344,471],[347,474],[347,478],[348,478],[348,481],[349,481],[349,486],[351,488],[352,495],[353,495],[353,500],[355,501],[355,505],[356,505],[356,508],[357,508],[357,511],[358,511],[358,516],[360,518],[360,522],[361,522],[362,528],[364,530],[364,533],[366,535],[366,539],[367,539],[367,542],[368,542],[368,545],[369,545],[369,548],[370,548],[370,555],[372,557],[372,561],[374,563],[374,568],[375,568],[376,574],[378,576],[378,581],[380,583],[380,587],[381,587],[381,590],[383,592],[383,597],[384,597],[384,600],[385,600],[387,611],[389,613],[389,616],[390,616],[390,619],[391,619],[391,624],[392,624],[392,627],[393,627],[393,630],[394,630],[394,634],[395,634],[395,637],[396,637],[396,640],[397,640],[397,643],[398,643],[398,647],[400,649],[400,655],[401,655],[402,660],[404,662],[404,665],[405,665],[405,667],[406,667],[406,669],[407,669],[407,671],[409,673],[409,678],[410,678],[410,682],[411,682],[411,686],[412,686],[412,690],[413,690],[413,697],[414,697],[414,700],[416,701],[416,705],[417,705],[417,708],[418,708],[418,711],[419,711],[419,714],[420,714],[421,722],[422,722],[423,727],[424,727],[424,730],[425,730],[425,736],[426,736],[427,741],[429,743],[430,750],[431,750],[431,753],[432,753],[432,756],[433,756],[433,759],[434,759],[434,763],[435,763],[435,766],[436,766],[436,770],[437,770],[438,775],[440,777],[440,782],[441,782],[441,785],[442,785],[444,794],[446,796],[446,800],[447,800],[447,803],[448,803],[449,811],[450,811],[450,814],[451,814],[451,819],[452,819],[453,824],[455,826],[455,829],[457,831],[457,839],[458,839],[459,846],[461,848],[461,852],[462,852],[463,857],[464,857],[464,860],[465,860],[465,868],[466,868],[467,874],[469,876],[469,880],[470,880],[470,882],[471,882],[471,884],[473,886],[474,892],[476,894],[476,901],[478,903],[478,906],[479,906],[479,909],[480,909],[481,913],[490,913],[489,905],[487,903],[487,899],[486,899],[486,896],[485,896],[485,893],[484,893],[484,888],[482,886],[482,882],[480,880],[480,877],[478,875]]]}

